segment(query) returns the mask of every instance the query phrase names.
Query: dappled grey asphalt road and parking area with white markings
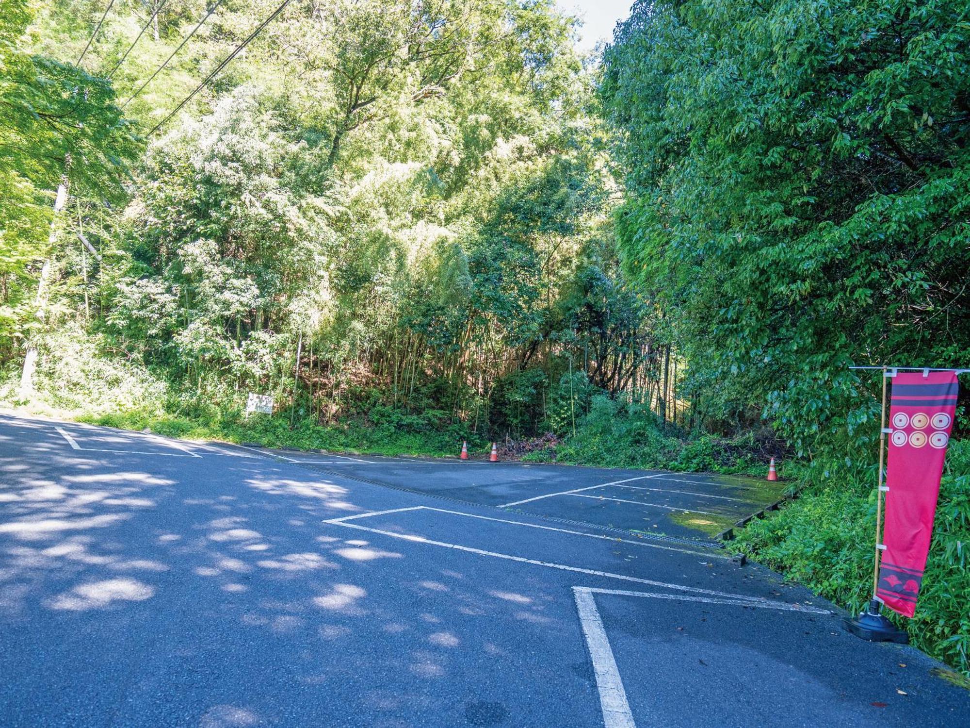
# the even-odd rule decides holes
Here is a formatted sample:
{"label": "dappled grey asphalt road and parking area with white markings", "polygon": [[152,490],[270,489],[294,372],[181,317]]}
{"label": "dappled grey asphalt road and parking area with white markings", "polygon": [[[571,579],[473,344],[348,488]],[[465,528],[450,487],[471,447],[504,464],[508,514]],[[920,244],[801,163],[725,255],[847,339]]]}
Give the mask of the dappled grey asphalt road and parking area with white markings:
{"label": "dappled grey asphalt road and parking area with white markings", "polygon": [[751,505],[718,480],[0,415],[0,725],[970,725],[918,650],[674,533]]}

